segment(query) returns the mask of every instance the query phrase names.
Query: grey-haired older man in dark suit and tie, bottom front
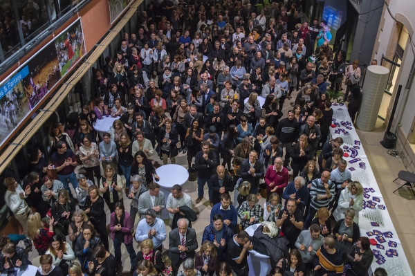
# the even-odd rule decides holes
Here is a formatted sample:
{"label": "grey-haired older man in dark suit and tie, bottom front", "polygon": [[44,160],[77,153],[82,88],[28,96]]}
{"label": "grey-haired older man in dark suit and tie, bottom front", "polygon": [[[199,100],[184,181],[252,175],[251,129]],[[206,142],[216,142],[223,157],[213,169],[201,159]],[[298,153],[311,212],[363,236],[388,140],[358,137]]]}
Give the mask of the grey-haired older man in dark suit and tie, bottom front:
{"label": "grey-haired older man in dark suit and tie, bottom front", "polygon": [[189,228],[187,219],[179,219],[177,228],[169,232],[169,258],[172,261],[173,275],[186,258],[194,258],[198,248],[196,231]]}

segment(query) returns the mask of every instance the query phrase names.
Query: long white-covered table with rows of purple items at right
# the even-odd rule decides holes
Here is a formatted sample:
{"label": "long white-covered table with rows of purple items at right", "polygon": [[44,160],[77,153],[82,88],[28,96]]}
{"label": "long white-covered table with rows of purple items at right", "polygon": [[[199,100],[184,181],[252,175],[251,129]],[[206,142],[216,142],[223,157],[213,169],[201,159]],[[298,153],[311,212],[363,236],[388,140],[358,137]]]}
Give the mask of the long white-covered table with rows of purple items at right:
{"label": "long white-covered table with rows of purple items at right", "polygon": [[333,122],[330,127],[332,138],[342,137],[342,149],[348,155],[347,167],[353,181],[359,181],[364,188],[363,210],[359,213],[360,235],[376,240],[371,245],[374,261],[369,275],[378,267],[385,268],[389,276],[413,275],[398,234],[387,211],[378,183],[371,169],[356,129],[344,104],[333,104]]}

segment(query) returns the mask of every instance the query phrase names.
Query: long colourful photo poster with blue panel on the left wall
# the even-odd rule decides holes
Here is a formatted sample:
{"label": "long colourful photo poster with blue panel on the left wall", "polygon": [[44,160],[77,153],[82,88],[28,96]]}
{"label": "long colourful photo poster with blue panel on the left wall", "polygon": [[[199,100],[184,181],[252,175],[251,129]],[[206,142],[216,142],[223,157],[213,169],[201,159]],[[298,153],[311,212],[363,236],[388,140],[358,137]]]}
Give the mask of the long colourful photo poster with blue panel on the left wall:
{"label": "long colourful photo poster with blue panel on the left wall", "polygon": [[85,54],[77,19],[1,82],[0,145]]}

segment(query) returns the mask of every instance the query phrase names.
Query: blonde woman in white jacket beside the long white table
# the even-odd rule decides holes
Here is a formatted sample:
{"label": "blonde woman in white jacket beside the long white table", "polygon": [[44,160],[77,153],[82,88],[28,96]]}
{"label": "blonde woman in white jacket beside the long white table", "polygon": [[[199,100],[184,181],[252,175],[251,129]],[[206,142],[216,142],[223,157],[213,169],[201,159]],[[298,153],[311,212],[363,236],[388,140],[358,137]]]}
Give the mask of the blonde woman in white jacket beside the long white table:
{"label": "blonde woman in white jacket beside the long white table", "polygon": [[354,210],[355,217],[353,221],[359,223],[359,212],[363,206],[363,187],[358,181],[351,181],[347,187],[340,192],[338,208],[333,212],[335,221],[344,219],[344,213],[347,210]]}

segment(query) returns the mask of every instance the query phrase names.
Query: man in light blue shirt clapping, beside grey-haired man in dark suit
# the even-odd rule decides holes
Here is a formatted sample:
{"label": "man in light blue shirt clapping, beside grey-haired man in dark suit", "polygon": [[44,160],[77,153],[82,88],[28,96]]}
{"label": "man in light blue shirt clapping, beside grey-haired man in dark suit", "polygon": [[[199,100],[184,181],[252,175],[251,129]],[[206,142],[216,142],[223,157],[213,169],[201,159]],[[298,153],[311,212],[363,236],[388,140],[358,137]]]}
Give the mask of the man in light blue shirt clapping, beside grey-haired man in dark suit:
{"label": "man in light blue shirt clapping, beside grey-haired man in dark suit", "polygon": [[163,241],[165,241],[167,234],[165,223],[163,219],[156,217],[156,211],[147,209],[145,211],[145,219],[142,219],[137,226],[136,241],[141,242],[145,239],[151,239],[154,248],[163,252]]}

